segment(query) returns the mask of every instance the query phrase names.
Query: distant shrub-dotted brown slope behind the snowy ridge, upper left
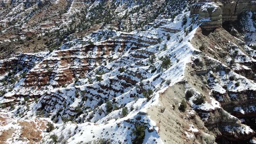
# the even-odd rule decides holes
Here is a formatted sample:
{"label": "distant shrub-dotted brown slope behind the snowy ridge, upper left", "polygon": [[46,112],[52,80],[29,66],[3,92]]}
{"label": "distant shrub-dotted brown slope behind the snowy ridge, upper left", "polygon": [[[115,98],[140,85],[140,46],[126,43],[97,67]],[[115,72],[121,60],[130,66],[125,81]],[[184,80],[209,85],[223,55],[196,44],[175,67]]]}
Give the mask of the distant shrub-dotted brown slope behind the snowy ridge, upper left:
{"label": "distant shrub-dotted brown slope behind the snowy ridge, upper left", "polygon": [[[195,0],[1,0],[0,59],[58,48],[98,29],[130,32]],[[187,8],[188,10],[188,8]]]}

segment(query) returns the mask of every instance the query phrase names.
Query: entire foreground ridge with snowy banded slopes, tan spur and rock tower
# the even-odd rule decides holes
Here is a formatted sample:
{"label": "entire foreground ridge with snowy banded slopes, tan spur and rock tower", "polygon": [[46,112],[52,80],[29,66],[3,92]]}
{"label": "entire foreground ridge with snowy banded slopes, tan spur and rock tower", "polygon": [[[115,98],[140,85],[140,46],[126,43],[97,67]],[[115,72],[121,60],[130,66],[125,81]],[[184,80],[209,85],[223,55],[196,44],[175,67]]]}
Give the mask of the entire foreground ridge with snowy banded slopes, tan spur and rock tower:
{"label": "entire foreground ridge with snowy banded slopes, tan spur and rock tower", "polygon": [[0,60],[0,143],[256,143],[254,4],[200,0]]}

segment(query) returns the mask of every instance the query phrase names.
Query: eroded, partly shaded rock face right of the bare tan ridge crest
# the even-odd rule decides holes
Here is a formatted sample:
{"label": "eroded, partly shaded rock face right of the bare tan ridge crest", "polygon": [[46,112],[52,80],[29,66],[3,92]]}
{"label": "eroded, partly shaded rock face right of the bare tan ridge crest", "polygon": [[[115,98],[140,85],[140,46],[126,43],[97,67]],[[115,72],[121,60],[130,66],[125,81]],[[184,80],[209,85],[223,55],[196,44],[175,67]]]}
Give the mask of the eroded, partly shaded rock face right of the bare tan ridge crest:
{"label": "eroded, partly shaded rock face right of the bare tan ridge crest", "polygon": [[[253,121],[253,117],[255,117],[253,110],[255,106],[255,86],[254,84],[252,86],[245,86],[253,82],[251,80],[254,79],[247,75],[248,73],[255,73],[253,66],[255,65],[255,60],[250,58],[254,57],[253,50],[249,49],[249,47],[244,45],[243,41],[236,39],[223,28],[215,29],[207,35],[199,28],[193,40],[194,46],[199,47],[203,55],[205,55],[200,60],[198,58],[194,60],[194,66],[192,67],[193,69],[198,69],[195,74],[199,77],[194,75],[193,79],[198,78],[200,80],[196,81],[203,82],[201,85],[208,85],[211,88],[211,92],[206,93],[210,93],[220,102],[222,107],[217,111],[210,111],[205,126],[216,135],[216,141],[220,144],[225,141],[244,143],[246,139],[254,135],[253,131],[248,131],[249,133],[237,131],[244,127],[243,125],[241,127],[241,122],[252,128],[253,125],[250,123]],[[218,61],[209,59],[208,56],[214,57]],[[242,57],[243,59],[241,59]],[[216,63],[219,63],[219,65],[216,65]],[[228,67],[225,65],[228,65]],[[206,71],[203,73],[203,70],[208,71],[208,73]],[[241,76],[234,78],[236,74]],[[227,75],[230,76],[227,77]],[[190,79],[192,78],[188,79],[189,82],[193,82]],[[240,89],[239,86],[243,82],[245,88],[240,87]],[[202,115],[205,113],[205,111],[201,110],[200,112]],[[226,112],[231,113],[236,118],[227,115]],[[237,118],[240,118],[241,121]],[[227,144],[229,143],[227,142]]]}

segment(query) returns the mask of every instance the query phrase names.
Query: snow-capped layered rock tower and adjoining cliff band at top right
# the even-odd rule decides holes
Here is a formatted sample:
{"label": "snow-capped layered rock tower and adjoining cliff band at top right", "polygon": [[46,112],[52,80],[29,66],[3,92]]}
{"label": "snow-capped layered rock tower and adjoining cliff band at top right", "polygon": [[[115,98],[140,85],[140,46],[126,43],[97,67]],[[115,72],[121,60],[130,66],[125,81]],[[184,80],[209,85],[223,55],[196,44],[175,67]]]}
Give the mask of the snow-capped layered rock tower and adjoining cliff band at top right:
{"label": "snow-capped layered rock tower and adjoining cliff band at top right", "polygon": [[246,10],[255,11],[256,2],[252,0],[201,0],[195,3],[191,14],[199,14],[203,29],[215,29],[225,21],[235,21]]}

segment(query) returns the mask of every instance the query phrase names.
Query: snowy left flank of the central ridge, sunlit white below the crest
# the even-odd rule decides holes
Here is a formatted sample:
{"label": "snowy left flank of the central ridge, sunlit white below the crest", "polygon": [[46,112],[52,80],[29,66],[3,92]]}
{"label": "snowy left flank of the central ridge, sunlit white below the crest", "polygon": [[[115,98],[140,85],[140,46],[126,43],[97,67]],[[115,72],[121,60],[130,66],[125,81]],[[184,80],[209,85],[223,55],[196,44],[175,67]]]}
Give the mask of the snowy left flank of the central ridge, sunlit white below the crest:
{"label": "snowy left flank of the central ridge, sunlit white below the crest", "polygon": [[[188,13],[185,14],[187,16],[189,15]],[[179,17],[181,16],[178,16],[177,19],[174,20],[173,25],[168,24],[164,26],[165,28],[177,29],[180,31],[177,31],[178,33],[170,32],[170,40],[166,40],[166,32],[163,33],[161,31],[161,27],[151,28],[147,32],[140,33],[139,36],[137,36],[138,32],[136,31],[132,33],[117,32],[117,34],[115,34],[115,32],[109,33],[109,31],[106,30],[95,32],[95,34],[91,34],[83,40],[90,40],[94,42],[94,45],[97,47],[113,41],[114,46],[117,48],[122,47],[120,44],[118,44],[118,41],[123,41],[124,39],[127,41],[128,38],[130,40],[125,42],[125,49],[123,49],[123,53],[117,52],[116,48],[114,48],[116,50],[113,49],[113,52],[108,53],[108,57],[112,55],[115,60],[103,60],[103,62],[106,63],[105,65],[98,65],[98,62],[96,62],[96,65],[98,66],[92,68],[91,72],[85,74],[85,78],[80,78],[78,82],[66,85],[65,87],[67,88],[53,88],[56,80],[61,79],[61,77],[58,79],[53,79],[49,84],[43,86],[43,88],[41,86],[40,90],[33,90],[32,87],[26,87],[27,81],[21,80],[16,84],[12,92],[5,94],[4,97],[1,97],[3,98],[1,102],[4,103],[10,101],[16,97],[15,95],[23,95],[23,97],[25,95],[42,95],[37,102],[32,102],[30,108],[20,105],[19,111],[26,111],[27,115],[30,115],[26,116],[26,118],[33,117],[33,115],[35,116],[36,111],[38,111],[39,108],[43,108],[43,111],[48,111],[47,113],[53,115],[51,119],[56,119],[56,126],[58,127],[58,129],[54,130],[51,134],[56,134],[58,137],[64,136],[64,139],[68,139],[67,141],[70,143],[79,142],[81,139],[79,137],[85,136],[88,138],[85,139],[84,142],[94,141],[97,140],[98,137],[101,137],[105,139],[112,139],[113,143],[119,141],[127,141],[130,143],[134,136],[127,137],[127,135],[131,133],[131,130],[134,128],[134,123],[141,123],[142,121],[144,121],[146,128],[153,128],[153,133],[146,132],[144,141],[158,141],[159,143],[163,143],[158,135],[158,127],[147,115],[144,115],[144,113],[148,107],[157,104],[159,92],[163,92],[168,85],[173,85],[176,82],[184,80],[186,65],[188,62],[190,62],[193,51],[196,50],[189,41],[193,38],[197,26],[193,26],[194,30],[186,36],[184,31],[181,31],[182,27],[178,27],[176,24],[181,23],[179,22],[181,21]],[[188,18],[188,21],[190,22],[191,19],[193,18]],[[103,38],[104,36],[101,35],[102,32],[109,33],[110,35],[107,35],[111,36],[111,38]],[[100,42],[100,39],[98,39],[99,35],[102,37],[102,42]],[[163,40],[161,40],[162,42],[154,45],[154,43],[158,42],[159,37],[164,37]],[[182,43],[179,43],[180,39],[183,39]],[[45,69],[44,71],[46,72],[50,71],[59,73],[63,72],[64,69],[67,68],[78,68],[78,65],[81,64],[79,62],[80,60],[76,59],[87,59],[87,57],[98,59],[97,57],[99,55],[99,51],[95,46],[90,48],[88,51],[88,56],[85,56],[78,50],[82,49],[82,47],[89,48],[90,45],[79,44],[82,43],[79,41],[69,43],[75,43],[75,45],[65,48],[62,46],[62,50],[53,51],[49,55],[44,56],[44,59],[37,63],[35,67],[28,72],[28,75],[43,72],[43,69]],[[135,47],[136,49],[132,50],[132,47]],[[106,51],[108,51],[108,49],[109,48],[106,48]],[[73,53],[73,56],[70,55],[68,57],[69,59],[73,58],[75,60],[73,63],[74,66],[71,66],[70,62],[67,66],[57,62],[62,61],[62,59],[66,59],[66,54],[71,54],[71,52]],[[154,58],[155,60],[153,63],[148,65],[147,63],[149,63],[149,56],[152,53],[155,53],[156,58]],[[170,58],[171,60],[171,65],[169,65],[167,69],[161,68],[162,60],[160,60],[160,58],[162,56],[167,57],[167,59]],[[55,65],[57,67],[53,67],[52,63],[50,63],[53,61],[56,61]],[[120,67],[124,67],[125,71],[120,73],[118,70]],[[152,68],[156,68],[156,70],[153,71]],[[96,76],[100,75],[98,75],[95,70],[104,72],[101,76],[102,81],[96,81]],[[89,78],[86,77],[89,77],[92,80],[89,80]],[[42,77],[39,79],[44,78]],[[75,86],[77,84],[79,86]],[[148,101],[147,98],[144,98],[140,89],[152,89],[154,93],[151,100]],[[135,97],[131,97],[131,95],[134,95]],[[24,98],[21,98],[20,100],[23,101]],[[108,114],[106,112],[107,100],[110,100],[113,105],[119,107],[118,110],[112,111]],[[103,104],[99,104],[100,101],[103,101]],[[43,105],[45,106],[42,107]],[[62,108],[63,105],[66,105],[66,107]],[[84,111],[82,112],[84,114],[78,116],[76,108],[81,108],[81,110]],[[121,117],[121,111],[123,108],[128,108],[129,111],[129,114],[124,118]],[[134,108],[134,110],[132,110],[132,108]],[[60,109],[62,109],[62,111]],[[54,118],[54,115],[59,116]],[[69,118],[70,115],[75,117],[75,121],[80,121],[79,123],[81,124],[78,124],[78,128],[76,126],[77,124],[62,124],[64,120],[63,118]],[[138,117],[140,117],[140,120],[136,120]],[[126,122],[127,119],[130,119],[131,121]],[[95,124],[92,122],[95,122]],[[128,127],[131,128],[127,129]],[[72,130],[74,128],[76,129],[75,131],[79,132],[74,134],[72,137],[66,137],[67,134],[65,134],[65,131],[74,131]],[[116,133],[122,134],[113,137],[112,133],[102,133],[102,131],[114,131],[113,128],[118,128],[118,131],[120,132],[117,131]],[[62,130],[64,133],[58,132],[59,130]],[[92,131],[89,132],[88,130]],[[50,142],[51,139],[47,140],[46,137],[43,138],[44,141],[46,143]]]}

